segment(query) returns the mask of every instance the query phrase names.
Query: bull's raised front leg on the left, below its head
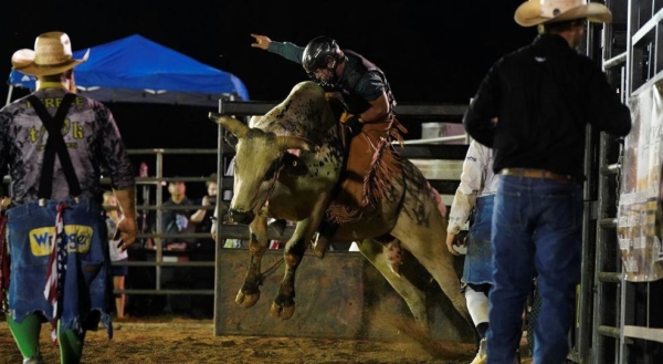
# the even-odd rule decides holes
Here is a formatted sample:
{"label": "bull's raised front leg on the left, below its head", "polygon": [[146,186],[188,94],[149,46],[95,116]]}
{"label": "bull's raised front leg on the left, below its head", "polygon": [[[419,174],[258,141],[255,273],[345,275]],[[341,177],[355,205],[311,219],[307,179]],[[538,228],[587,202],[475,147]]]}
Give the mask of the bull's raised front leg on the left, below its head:
{"label": "bull's raised front leg on the left, below its head", "polygon": [[263,282],[261,273],[262,257],[267,250],[267,217],[262,214],[249,226],[251,232],[249,239],[249,252],[251,253],[251,262],[244,284],[235,297],[235,303],[244,308],[253,306],[260,299],[260,285]]}

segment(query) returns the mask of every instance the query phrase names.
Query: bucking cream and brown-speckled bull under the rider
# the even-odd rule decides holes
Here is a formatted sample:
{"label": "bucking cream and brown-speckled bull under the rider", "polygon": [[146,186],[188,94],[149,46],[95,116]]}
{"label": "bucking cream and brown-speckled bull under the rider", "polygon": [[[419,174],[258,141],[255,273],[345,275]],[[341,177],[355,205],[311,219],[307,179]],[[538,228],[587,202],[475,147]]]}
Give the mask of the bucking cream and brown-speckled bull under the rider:
{"label": "bucking cream and brown-speckled bull under the rider", "polygon": [[[293,87],[285,101],[251,125],[217,113],[210,118],[236,137],[234,196],[229,214],[249,223],[251,262],[235,302],[253,306],[262,284],[261,259],[267,249],[267,218],[296,221],[284,249],[285,275],[271,315],[290,319],[295,311],[295,272],[334,198],[344,166],[341,131],[323,89],[313,82]],[[360,136],[356,136],[360,137]],[[356,241],[359,250],[406,300],[414,320],[428,329],[425,292],[406,274],[393,272],[386,242],[400,240],[435,279],[454,308],[471,323],[460,292],[454,258],[444,245],[446,220],[438,193],[409,160],[399,164],[387,199],[365,209],[357,221],[340,225],[334,239]],[[408,264],[408,260],[403,261]]]}

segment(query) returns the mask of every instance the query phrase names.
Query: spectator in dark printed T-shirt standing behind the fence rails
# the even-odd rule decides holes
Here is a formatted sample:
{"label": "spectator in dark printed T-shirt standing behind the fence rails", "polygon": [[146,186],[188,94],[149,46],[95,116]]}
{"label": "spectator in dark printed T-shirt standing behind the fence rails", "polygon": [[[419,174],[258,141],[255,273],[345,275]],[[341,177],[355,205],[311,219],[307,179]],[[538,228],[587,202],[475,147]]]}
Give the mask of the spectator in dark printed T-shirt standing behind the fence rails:
{"label": "spectator in dark printed T-shirt standing behind the fence rails", "polygon": [[[171,180],[168,184],[170,199],[164,202],[161,216],[161,232],[166,235],[185,235],[196,232],[191,216],[196,212],[194,204],[187,197],[187,185],[182,180]],[[190,208],[187,208],[190,207]],[[193,248],[193,237],[168,237],[164,238],[164,249],[187,250]]]}

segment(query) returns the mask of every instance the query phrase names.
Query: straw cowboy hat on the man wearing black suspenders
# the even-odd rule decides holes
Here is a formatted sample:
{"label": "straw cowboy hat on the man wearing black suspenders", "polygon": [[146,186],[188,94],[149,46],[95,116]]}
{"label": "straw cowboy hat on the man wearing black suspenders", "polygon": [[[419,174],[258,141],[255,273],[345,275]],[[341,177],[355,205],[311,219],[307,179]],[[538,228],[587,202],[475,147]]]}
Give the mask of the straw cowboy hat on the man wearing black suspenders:
{"label": "straw cowboy hat on the man wearing black suspenders", "polygon": [[11,56],[13,70],[33,76],[63,73],[87,61],[90,50],[82,60],[74,60],[72,42],[63,32],[48,32],[39,35],[33,50],[18,50]]}

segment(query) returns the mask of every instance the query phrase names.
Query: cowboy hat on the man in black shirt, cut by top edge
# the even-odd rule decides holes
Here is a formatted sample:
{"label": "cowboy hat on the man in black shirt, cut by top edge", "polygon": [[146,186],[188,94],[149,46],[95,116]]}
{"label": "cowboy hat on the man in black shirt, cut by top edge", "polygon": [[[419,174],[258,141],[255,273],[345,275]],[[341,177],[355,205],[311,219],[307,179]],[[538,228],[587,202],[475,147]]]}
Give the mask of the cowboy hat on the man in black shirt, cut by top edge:
{"label": "cowboy hat on the man in black shirt, cut by top edge", "polygon": [[609,23],[612,21],[612,13],[606,6],[587,3],[587,0],[529,0],[522,3],[514,15],[516,23],[523,27],[582,18],[597,23]]}

